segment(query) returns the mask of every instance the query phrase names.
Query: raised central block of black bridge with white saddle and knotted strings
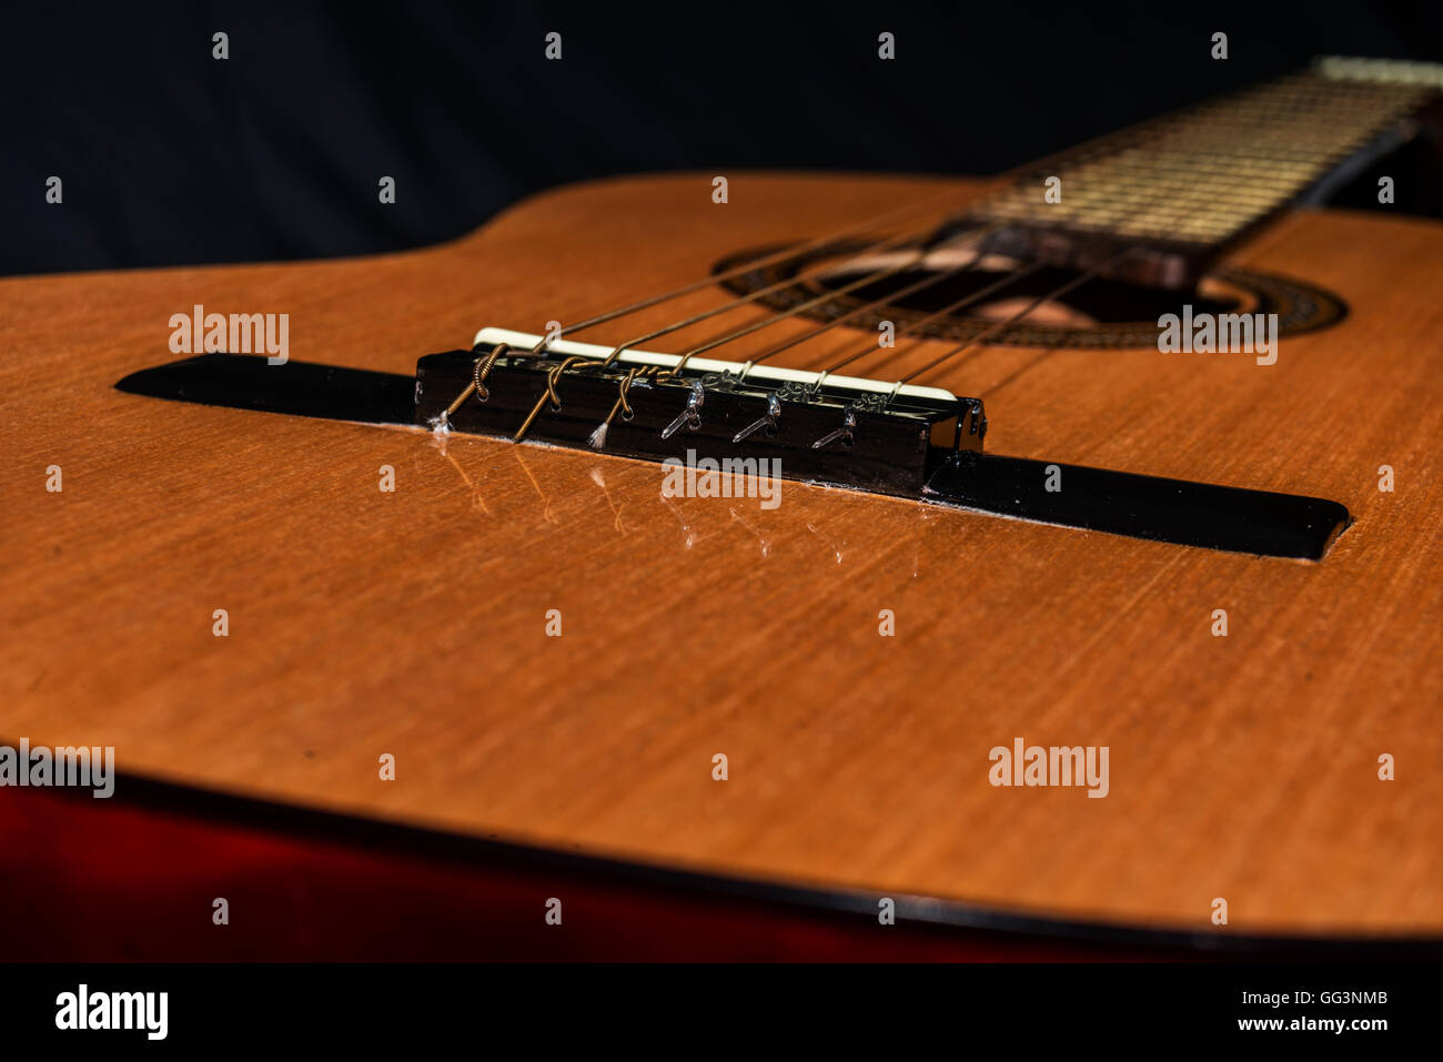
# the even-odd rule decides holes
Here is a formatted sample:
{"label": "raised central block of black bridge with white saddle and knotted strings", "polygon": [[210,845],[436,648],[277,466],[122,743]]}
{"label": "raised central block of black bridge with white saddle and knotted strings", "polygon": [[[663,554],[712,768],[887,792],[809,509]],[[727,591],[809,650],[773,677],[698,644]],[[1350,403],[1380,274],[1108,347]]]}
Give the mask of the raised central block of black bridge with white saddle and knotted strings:
{"label": "raised central block of black bridge with white saddle and knotted strings", "polygon": [[[613,348],[564,339],[544,356],[530,354],[540,342],[482,329],[470,351],[421,358],[416,423],[437,424],[472,384],[476,359],[505,343],[486,374],[485,401],[470,395],[446,417],[449,427],[512,436],[527,424],[530,439],[648,460],[690,456],[727,468],[771,459],[788,479],[908,498],[952,455],[980,453],[987,430],[980,400],[935,387],[710,358],[681,364],[677,355],[645,351],[625,351],[606,364]],[[567,359],[577,361],[557,374]],[[618,403],[628,378],[623,405],[631,416]],[[540,413],[528,423],[534,410]]]}

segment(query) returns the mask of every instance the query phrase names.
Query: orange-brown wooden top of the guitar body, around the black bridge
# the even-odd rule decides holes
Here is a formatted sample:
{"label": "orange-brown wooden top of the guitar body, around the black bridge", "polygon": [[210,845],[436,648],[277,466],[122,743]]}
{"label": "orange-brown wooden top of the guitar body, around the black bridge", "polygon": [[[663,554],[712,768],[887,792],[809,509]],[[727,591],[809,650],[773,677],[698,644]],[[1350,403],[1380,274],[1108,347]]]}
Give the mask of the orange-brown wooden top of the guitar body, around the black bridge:
{"label": "orange-brown wooden top of the guitar body, around the black bridge", "polygon": [[[987,348],[926,379],[987,400],[999,453],[1341,501],[1356,524],[1319,564],[791,482],[775,511],[672,502],[648,463],[111,390],[173,356],[169,316],[195,303],[290,313],[293,358],[410,372],[481,325],[541,330],[742,247],[977,188],[730,177],[724,206],[709,176],[610,180],[380,258],[0,281],[0,740],[771,882],[1205,932],[1437,934],[1443,227],[1304,212],[1242,248],[1352,307],[1270,368]],[[856,342],[837,329],[789,364]],[[1017,736],[1107,745],[1110,795],[988,785],[988,750]]]}

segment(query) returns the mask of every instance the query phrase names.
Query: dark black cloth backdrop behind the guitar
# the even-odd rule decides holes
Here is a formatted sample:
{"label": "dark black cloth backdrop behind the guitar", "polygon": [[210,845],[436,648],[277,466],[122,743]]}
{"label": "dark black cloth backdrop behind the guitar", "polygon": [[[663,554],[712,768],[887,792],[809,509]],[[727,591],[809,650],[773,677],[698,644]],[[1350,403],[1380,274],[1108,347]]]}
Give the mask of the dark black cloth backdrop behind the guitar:
{"label": "dark black cloth backdrop behind the guitar", "polygon": [[30,3],[0,273],[416,247],[615,173],[994,173],[1319,53],[1437,61],[1443,4]]}

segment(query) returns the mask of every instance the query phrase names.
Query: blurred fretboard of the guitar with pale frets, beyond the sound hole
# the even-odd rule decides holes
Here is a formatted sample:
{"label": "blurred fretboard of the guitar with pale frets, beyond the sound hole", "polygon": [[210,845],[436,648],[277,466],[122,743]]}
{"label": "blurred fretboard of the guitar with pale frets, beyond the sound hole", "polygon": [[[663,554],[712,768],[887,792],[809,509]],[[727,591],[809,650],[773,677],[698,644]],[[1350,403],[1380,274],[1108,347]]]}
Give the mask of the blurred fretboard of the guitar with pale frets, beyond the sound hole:
{"label": "blurred fretboard of the guitar with pale frets, beyond the sound hole", "polygon": [[[1397,143],[1440,88],[1437,65],[1320,59],[1049,159],[971,216],[1006,225],[996,250],[1179,286],[1351,160]],[[1128,267],[1107,268],[1118,255]]]}

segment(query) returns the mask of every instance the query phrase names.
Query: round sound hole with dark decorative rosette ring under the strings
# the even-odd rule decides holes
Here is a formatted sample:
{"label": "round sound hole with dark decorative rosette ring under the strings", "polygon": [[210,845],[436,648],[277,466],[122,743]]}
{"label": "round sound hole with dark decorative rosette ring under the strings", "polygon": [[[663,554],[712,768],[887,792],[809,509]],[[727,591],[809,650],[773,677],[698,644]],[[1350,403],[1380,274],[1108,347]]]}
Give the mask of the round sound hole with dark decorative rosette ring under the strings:
{"label": "round sound hole with dark decorative rosette ring under the strings", "polygon": [[[762,263],[782,250],[785,245],[742,251],[716,263],[713,273],[726,273],[752,260]],[[1016,261],[988,257],[977,267],[952,271],[954,261],[942,248],[929,254],[925,264],[892,273],[885,280],[846,294],[834,294],[810,309],[797,309],[886,264],[879,257],[857,258],[866,250],[864,244],[857,244],[794,255],[784,261],[759,264],[753,271],[722,281],[722,286],[746,296],[784,281],[794,281],[756,302],[775,310],[795,310],[798,316],[817,322],[846,316],[846,326],[867,332],[876,332],[880,322],[890,320],[899,336],[905,333],[908,338],[965,342],[994,328],[1019,303],[1053,291],[1075,276],[1068,270],[1043,268],[1007,284],[984,302],[937,316],[941,307],[958,302],[971,291],[996,284],[1000,277],[1017,267]],[[898,254],[915,254],[915,251]],[[951,254],[958,255],[958,260],[970,255],[968,251]],[[827,268],[828,261],[834,263],[835,268]],[[944,271],[951,271],[952,276],[892,302],[892,293],[915,289],[929,274]],[[1039,307],[1025,320],[996,332],[987,342],[1045,348],[1154,346],[1159,333],[1157,319],[1165,313],[1180,313],[1185,303],[1192,306],[1193,313],[1276,313],[1280,335],[1328,328],[1348,315],[1346,303],[1330,291],[1291,277],[1254,270],[1218,268],[1203,277],[1189,294],[1098,277],[1076,287],[1061,304]],[[926,320],[929,316],[935,319]]]}

